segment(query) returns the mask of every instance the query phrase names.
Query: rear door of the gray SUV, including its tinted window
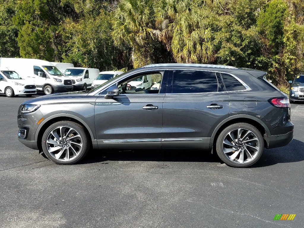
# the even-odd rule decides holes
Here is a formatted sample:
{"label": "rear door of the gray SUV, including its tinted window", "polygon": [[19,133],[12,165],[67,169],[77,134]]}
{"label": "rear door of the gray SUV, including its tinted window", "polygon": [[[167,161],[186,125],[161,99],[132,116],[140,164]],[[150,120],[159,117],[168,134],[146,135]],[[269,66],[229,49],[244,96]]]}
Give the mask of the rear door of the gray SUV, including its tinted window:
{"label": "rear door of the gray SUV, including its tinted window", "polygon": [[163,102],[161,147],[209,149],[215,127],[229,116],[229,96],[219,73],[171,70]]}

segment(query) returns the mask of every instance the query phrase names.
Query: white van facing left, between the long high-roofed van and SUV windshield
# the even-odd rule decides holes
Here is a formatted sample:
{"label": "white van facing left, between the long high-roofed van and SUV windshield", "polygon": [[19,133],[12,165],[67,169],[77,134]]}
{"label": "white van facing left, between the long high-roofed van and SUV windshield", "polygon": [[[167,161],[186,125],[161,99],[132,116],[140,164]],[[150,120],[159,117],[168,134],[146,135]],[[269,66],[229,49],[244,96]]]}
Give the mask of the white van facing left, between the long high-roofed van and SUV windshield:
{"label": "white van facing left, between the long high-roofed van and SUV windshield", "polygon": [[74,89],[78,90],[87,90],[87,88],[91,88],[92,82],[97,77],[98,73],[99,69],[84,67],[67,68],[64,71],[64,75],[72,79]]}

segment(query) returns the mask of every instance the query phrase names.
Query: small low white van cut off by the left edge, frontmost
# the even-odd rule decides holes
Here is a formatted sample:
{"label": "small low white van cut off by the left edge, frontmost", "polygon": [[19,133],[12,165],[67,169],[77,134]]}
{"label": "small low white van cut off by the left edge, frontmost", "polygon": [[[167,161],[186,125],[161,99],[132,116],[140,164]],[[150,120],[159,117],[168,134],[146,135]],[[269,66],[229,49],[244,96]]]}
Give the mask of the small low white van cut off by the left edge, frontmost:
{"label": "small low white van cut off by the left edge, frontmost", "polygon": [[7,97],[15,95],[26,95],[27,97],[36,94],[34,82],[24,79],[15,71],[0,68],[0,93]]}

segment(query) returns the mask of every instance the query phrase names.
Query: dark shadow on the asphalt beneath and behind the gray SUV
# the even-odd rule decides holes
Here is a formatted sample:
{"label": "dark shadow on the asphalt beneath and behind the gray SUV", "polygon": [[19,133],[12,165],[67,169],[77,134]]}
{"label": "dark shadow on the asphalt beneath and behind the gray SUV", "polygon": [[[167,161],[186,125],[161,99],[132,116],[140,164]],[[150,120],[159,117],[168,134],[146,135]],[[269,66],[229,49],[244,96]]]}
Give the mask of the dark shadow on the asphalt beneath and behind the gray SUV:
{"label": "dark shadow on the asphalt beneath and behind the gray SUV", "polygon": [[[90,164],[106,161],[172,161],[172,162],[223,162],[216,153],[202,150],[173,149],[134,149],[134,150],[91,150],[79,164]],[[271,166],[278,163],[304,161],[304,143],[292,140],[285,147],[264,149],[264,152],[252,168]]]}

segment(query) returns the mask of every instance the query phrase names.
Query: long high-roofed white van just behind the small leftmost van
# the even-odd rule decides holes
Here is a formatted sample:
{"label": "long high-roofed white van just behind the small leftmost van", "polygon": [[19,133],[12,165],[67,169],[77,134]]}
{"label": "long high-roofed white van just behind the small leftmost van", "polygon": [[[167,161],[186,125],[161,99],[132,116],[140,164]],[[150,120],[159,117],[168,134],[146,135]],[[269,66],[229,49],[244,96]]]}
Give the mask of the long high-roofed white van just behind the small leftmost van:
{"label": "long high-roofed white van just behind the small leftmost van", "polygon": [[73,90],[72,81],[65,77],[53,64],[39,59],[0,58],[0,67],[16,71],[34,81],[37,90],[45,94]]}

